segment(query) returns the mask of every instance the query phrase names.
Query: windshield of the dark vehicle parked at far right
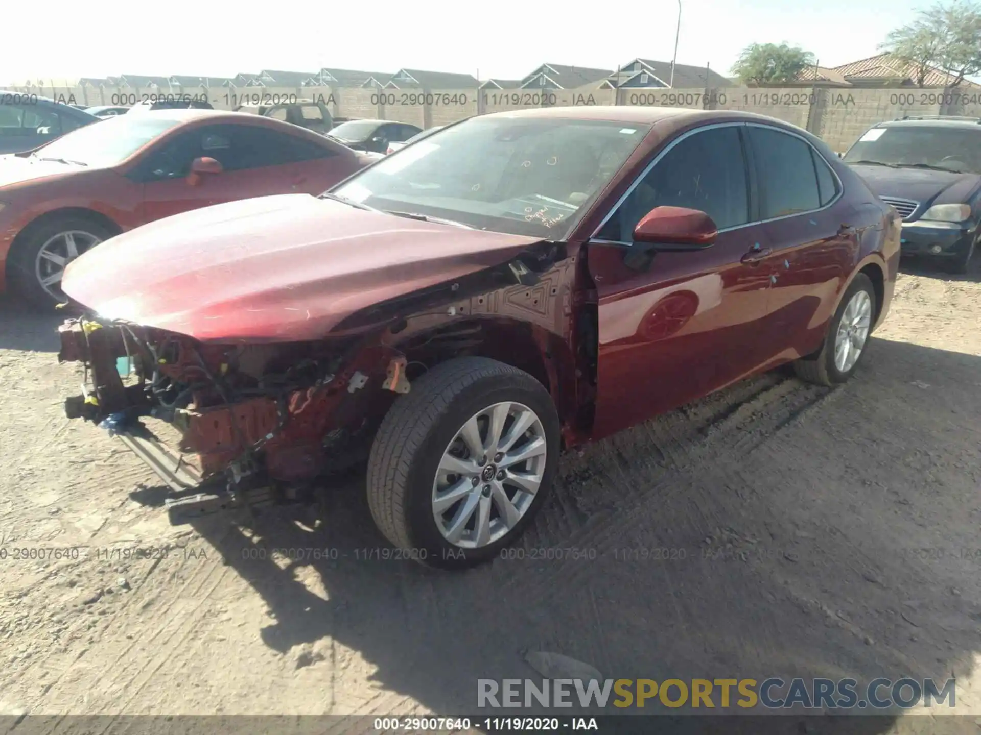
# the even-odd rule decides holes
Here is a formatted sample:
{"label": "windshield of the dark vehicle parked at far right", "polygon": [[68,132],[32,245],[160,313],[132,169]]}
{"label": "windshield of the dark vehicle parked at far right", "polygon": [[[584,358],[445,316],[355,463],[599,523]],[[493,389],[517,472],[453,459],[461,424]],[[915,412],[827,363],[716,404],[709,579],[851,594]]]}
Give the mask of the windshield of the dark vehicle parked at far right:
{"label": "windshield of the dark vehicle parked at far right", "polygon": [[977,128],[873,127],[858,139],[843,161],[981,173],[981,125]]}

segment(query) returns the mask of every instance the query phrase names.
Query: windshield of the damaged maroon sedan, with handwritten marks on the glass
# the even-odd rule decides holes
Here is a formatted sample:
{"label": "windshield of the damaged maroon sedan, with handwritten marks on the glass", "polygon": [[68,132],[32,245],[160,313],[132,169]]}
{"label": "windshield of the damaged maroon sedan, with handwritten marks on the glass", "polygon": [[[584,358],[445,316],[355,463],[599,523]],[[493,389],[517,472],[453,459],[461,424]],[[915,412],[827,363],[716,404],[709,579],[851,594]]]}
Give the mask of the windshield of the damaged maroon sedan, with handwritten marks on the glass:
{"label": "windshield of the damaged maroon sedan, with handwritten marks on the glass", "polygon": [[379,210],[548,239],[619,171],[649,125],[472,118],[347,179],[334,194]]}

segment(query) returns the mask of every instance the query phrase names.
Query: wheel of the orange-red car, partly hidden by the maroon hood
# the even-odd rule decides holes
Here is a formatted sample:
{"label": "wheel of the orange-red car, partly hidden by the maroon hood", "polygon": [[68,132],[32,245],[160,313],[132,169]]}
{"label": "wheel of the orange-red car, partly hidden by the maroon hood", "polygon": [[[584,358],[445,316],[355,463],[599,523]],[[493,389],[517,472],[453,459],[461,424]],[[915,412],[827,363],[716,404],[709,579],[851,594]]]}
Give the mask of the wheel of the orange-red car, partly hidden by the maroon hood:
{"label": "wheel of the orange-red car, partly hidden by the maroon hood", "polygon": [[38,309],[65,301],[65,269],[82,253],[113,236],[106,227],[83,217],[64,217],[33,227],[11,254],[13,286]]}

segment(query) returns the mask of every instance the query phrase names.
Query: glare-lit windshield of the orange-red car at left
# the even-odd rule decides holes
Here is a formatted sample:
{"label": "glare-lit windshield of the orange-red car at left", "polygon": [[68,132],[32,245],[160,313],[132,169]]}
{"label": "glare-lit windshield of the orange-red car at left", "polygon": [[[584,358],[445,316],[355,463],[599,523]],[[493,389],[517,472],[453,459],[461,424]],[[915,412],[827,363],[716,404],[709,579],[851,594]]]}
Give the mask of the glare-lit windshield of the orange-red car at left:
{"label": "glare-lit windshield of the orange-red car at left", "polygon": [[86,166],[115,166],[163,132],[181,124],[169,118],[120,115],[85,125],[48,143],[33,155],[60,158]]}

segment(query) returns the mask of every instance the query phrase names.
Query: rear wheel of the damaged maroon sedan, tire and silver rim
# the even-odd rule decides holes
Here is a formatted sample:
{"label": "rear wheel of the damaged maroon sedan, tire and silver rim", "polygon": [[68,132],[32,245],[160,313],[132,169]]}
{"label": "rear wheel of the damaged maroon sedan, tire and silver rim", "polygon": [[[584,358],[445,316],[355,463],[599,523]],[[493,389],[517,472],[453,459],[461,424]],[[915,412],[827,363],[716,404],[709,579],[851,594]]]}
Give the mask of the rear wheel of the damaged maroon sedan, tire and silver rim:
{"label": "rear wheel of the damaged maroon sedan, tire and silver rim", "polygon": [[820,352],[794,363],[800,378],[819,385],[844,383],[858,368],[872,331],[876,301],[872,281],[858,273],[838,306]]}

